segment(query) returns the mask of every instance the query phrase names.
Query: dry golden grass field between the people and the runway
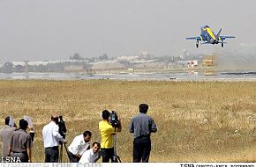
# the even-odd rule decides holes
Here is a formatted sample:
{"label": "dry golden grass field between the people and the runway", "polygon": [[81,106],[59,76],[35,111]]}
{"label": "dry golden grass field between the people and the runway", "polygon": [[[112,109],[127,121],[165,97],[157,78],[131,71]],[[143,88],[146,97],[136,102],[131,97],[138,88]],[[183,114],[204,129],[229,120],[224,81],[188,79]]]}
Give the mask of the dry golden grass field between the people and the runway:
{"label": "dry golden grass field between the people and the runway", "polygon": [[[64,116],[68,144],[84,130],[99,140],[102,110],[117,111],[123,131],[117,154],[132,162],[129,122],[138,105],[149,105],[158,132],[152,134],[151,162],[254,162],[256,160],[255,82],[172,81],[0,81],[0,115],[16,123],[34,118],[33,161],[43,162],[41,129],[50,115]],[[64,152],[64,160],[67,160]]]}

